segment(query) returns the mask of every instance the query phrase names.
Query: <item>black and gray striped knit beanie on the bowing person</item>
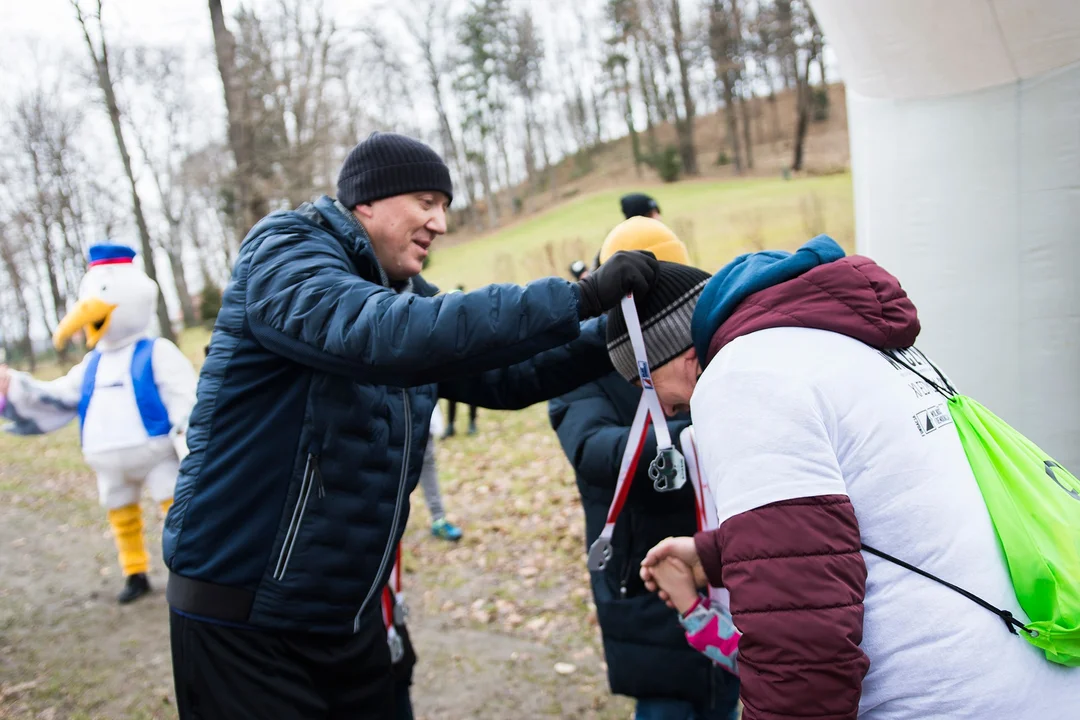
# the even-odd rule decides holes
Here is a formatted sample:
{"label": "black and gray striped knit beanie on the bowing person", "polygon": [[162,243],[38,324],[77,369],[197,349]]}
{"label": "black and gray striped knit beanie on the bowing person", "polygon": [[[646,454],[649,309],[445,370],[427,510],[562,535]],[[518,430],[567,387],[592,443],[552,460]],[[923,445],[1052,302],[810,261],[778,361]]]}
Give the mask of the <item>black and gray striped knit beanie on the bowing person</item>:
{"label": "black and gray striped knit beanie on the bowing person", "polygon": [[[704,270],[676,262],[661,262],[657,282],[644,298],[637,298],[637,316],[642,322],[649,371],[666,365],[693,347],[690,321],[698,298],[712,277]],[[630,343],[622,308],[608,312],[608,354],[611,364],[629,382],[637,380],[637,362]]]}

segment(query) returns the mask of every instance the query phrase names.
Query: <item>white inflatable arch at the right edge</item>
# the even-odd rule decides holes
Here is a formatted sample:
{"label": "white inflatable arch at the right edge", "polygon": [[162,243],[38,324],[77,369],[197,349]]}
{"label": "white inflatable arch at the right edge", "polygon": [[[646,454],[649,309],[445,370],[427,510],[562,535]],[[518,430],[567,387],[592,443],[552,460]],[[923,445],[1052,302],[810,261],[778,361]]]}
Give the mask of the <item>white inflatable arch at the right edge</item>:
{"label": "white inflatable arch at the right edge", "polygon": [[810,0],[847,84],[859,253],[919,347],[1080,473],[1080,0]]}

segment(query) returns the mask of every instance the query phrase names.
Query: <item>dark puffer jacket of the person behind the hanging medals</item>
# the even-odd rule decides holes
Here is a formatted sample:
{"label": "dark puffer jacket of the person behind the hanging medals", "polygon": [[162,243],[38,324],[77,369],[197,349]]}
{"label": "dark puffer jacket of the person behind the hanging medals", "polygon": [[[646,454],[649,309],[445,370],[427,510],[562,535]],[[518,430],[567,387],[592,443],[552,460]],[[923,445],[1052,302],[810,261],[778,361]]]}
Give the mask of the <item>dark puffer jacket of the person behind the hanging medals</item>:
{"label": "dark puffer jacket of the person behind the hanging medals", "polygon": [[[578,475],[586,548],[607,520],[640,396],[642,391],[610,372],[549,404],[551,424]],[[686,416],[667,423],[676,445],[688,424]],[[608,682],[611,692],[632,697],[731,703],[738,690],[726,687],[730,676],[687,643],[675,611],[646,590],[639,575],[642,560],[657,543],[698,530],[689,481],[674,492],[652,489],[648,468],[656,453],[656,437],[649,430],[630,495],[616,521],[611,560],[603,571],[590,573]]]}

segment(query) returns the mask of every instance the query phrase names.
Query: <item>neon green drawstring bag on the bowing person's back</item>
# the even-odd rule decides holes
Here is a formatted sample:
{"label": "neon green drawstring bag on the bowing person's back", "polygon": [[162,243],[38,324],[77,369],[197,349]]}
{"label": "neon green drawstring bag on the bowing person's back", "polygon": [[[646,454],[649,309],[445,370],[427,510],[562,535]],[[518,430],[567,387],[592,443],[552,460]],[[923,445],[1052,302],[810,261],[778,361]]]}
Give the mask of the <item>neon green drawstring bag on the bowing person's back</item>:
{"label": "neon green drawstring bag on the bowing person's back", "polygon": [[1080,666],[1080,480],[1004,420],[956,393],[940,371],[933,381],[902,354],[890,357],[948,398],[1016,599],[1030,620],[1021,635],[1051,662]]}

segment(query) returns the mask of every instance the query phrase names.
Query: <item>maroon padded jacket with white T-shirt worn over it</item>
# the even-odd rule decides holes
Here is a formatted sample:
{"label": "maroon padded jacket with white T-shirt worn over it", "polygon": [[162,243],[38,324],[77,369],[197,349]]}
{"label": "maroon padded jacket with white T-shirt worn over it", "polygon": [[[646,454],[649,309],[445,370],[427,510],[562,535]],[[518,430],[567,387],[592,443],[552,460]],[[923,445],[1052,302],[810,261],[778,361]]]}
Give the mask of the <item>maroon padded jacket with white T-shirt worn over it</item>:
{"label": "maroon padded jacket with white T-shirt worn over it", "polygon": [[745,720],[1080,717],[1080,670],[860,552],[1020,612],[943,398],[879,352],[918,331],[855,256],[750,296],[713,336],[691,413],[720,525],[696,544],[731,594]]}

